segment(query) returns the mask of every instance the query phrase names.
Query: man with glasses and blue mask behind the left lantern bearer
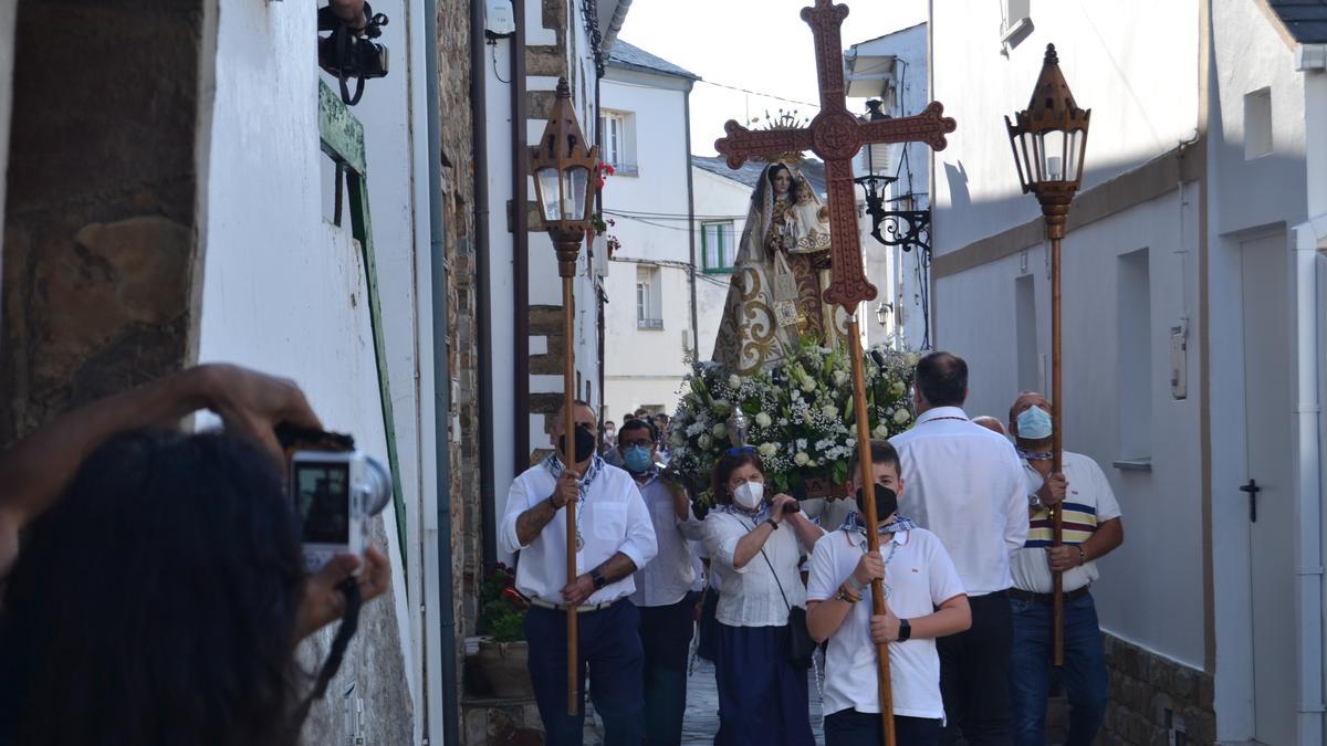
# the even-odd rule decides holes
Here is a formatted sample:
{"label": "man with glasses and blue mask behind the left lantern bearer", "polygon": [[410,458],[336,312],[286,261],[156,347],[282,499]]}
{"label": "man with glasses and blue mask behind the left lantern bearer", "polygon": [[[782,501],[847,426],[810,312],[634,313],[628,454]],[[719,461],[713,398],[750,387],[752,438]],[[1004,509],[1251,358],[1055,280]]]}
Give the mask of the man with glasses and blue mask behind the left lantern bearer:
{"label": "man with glasses and blue mask behind the left lantern bearer", "polygon": [[656,430],[648,419],[629,419],[618,433],[622,467],[636,481],[654,526],[658,554],[636,571],[632,603],[641,615],[645,646],[646,743],[682,741],[686,711],[686,654],[695,628],[695,556],[689,540],[703,538],[691,500],[656,462]]}

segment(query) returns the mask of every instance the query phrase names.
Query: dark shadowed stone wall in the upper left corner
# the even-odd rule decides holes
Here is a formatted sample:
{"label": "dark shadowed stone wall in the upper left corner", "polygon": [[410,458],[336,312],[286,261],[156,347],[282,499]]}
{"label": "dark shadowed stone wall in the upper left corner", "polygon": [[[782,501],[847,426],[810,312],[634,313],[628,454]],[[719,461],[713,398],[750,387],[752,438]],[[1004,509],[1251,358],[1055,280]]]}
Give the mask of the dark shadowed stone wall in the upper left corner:
{"label": "dark shadowed stone wall in the upper left corner", "polygon": [[19,3],[0,442],[182,368],[199,3]]}

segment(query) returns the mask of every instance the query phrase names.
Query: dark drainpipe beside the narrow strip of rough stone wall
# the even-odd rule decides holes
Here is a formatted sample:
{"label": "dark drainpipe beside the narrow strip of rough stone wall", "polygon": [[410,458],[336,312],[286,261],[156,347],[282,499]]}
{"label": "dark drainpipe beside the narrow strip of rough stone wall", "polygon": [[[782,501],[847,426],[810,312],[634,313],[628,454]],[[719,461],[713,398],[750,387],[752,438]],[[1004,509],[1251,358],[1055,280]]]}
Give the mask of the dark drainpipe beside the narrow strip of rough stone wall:
{"label": "dark drainpipe beside the narrow strip of rough stone wall", "polygon": [[[488,92],[484,85],[484,4],[470,4],[470,142],[475,178],[475,385],[479,398],[479,520],[484,575],[498,561],[494,507],[492,287],[488,265]],[[441,115],[441,113],[439,113]]]}

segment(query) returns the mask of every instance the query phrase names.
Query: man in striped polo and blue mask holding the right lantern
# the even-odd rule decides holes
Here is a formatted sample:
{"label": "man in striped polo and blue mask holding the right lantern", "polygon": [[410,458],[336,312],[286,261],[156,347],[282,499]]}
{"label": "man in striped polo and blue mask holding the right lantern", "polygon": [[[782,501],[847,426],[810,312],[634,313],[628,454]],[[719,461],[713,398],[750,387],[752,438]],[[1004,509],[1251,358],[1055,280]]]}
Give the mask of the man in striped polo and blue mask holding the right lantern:
{"label": "man in striped polo and blue mask holding the right lantern", "polygon": [[[1091,458],[1064,451],[1063,474],[1051,473],[1051,405],[1036,392],[1023,392],[1009,409],[1009,430],[1027,475],[1027,543],[1013,554],[1014,656],[1010,696],[1014,743],[1040,746],[1046,738],[1046,698],[1056,673],[1070,698],[1067,745],[1088,745],[1105,717],[1108,678],[1096,605],[1088,587],[1097,577],[1093,560],[1124,542],[1120,506],[1101,467]],[[1051,546],[1048,511],[1060,506],[1063,543]],[[1054,670],[1052,571],[1064,583],[1064,668]]]}

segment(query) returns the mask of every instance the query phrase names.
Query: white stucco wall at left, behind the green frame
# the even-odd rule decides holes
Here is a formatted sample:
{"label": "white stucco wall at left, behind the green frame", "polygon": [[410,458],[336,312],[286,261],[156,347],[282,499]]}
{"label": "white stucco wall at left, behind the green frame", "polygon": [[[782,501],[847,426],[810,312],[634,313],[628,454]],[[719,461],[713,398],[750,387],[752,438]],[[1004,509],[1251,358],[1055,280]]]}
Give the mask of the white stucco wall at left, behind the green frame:
{"label": "white stucco wall at left, behind the green frame", "polygon": [[[385,29],[397,66],[370,82],[354,114],[365,122],[369,199],[380,303],[387,345],[401,487],[410,536],[419,528],[422,486],[433,486],[433,398],[429,345],[427,204],[415,169],[423,143],[422,77],[409,74],[406,35],[422,3],[389,0],[380,8],[397,21]],[[413,44],[419,44],[414,29]],[[391,35],[391,36],[387,36]],[[206,44],[215,68],[200,96],[199,242],[202,272],[199,360],[231,361],[296,380],[328,429],[353,433],[361,450],[386,461],[378,374],[366,297],[365,267],[349,236],[322,218],[318,145],[318,72],[311,7],[276,3],[210,11]],[[415,381],[415,377],[419,377]],[[427,425],[425,425],[427,422]],[[395,516],[384,522],[393,564],[399,564]],[[407,561],[419,567],[415,542]],[[422,581],[411,572],[411,581]],[[393,600],[409,697],[418,702],[422,661],[417,615],[406,604],[405,568],[393,573]],[[380,661],[354,656],[349,676],[369,677],[369,721],[401,713],[373,710],[373,670]],[[418,713],[418,710],[417,710]],[[413,730],[418,734],[419,725]]]}

